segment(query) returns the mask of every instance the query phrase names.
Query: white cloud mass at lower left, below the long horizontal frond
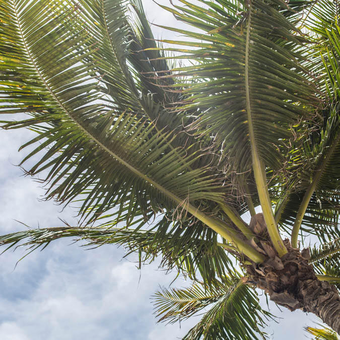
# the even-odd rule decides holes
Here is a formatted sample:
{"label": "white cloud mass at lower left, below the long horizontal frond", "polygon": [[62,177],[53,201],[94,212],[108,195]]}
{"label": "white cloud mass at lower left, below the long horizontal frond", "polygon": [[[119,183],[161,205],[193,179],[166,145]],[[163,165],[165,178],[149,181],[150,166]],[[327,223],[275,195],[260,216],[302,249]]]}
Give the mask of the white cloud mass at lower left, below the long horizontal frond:
{"label": "white cloud mass at lower left, below the long horizontal frond", "polygon": [[[135,263],[117,260],[122,252],[113,246],[85,251],[66,244],[57,242],[37,253],[33,263],[25,259],[17,267],[21,275],[17,269],[7,274],[6,284],[17,287],[8,297],[0,297],[0,338],[6,335],[8,328],[3,325],[9,321],[28,338],[46,340],[111,339],[113,333],[115,339],[143,340],[158,328],[164,331],[163,325],[155,325],[150,295],[158,283],[168,285],[173,277],[166,278],[149,265],[140,280]],[[39,276],[37,263],[42,277],[29,282],[30,266],[30,275]],[[16,283],[20,276],[26,285]],[[16,298],[17,288],[29,294]],[[172,338],[184,334],[178,326],[171,328]]]}

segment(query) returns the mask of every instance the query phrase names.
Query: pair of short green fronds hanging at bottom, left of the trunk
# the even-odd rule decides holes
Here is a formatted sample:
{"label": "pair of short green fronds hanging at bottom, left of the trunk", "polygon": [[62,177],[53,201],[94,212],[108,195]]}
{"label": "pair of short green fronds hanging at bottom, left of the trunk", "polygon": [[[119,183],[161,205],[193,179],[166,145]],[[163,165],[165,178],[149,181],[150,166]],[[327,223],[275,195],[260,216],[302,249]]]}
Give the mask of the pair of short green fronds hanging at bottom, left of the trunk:
{"label": "pair of short green fronds hanging at bottom, left of the trunk", "polygon": [[159,321],[170,323],[210,308],[183,339],[263,338],[265,334],[259,326],[263,326],[264,319],[273,317],[259,307],[256,294],[240,279],[224,278],[220,286],[210,289],[198,284],[185,289],[162,289],[153,299]]}

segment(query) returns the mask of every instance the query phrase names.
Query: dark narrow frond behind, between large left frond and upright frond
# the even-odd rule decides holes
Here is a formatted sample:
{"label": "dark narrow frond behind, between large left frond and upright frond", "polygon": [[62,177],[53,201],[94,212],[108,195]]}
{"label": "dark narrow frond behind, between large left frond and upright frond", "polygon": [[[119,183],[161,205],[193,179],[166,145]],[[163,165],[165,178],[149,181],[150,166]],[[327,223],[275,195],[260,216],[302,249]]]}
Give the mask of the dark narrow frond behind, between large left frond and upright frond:
{"label": "dark narrow frond behind, between large left frond and upright frond", "polygon": [[[161,43],[157,44],[153,37],[141,2],[133,1],[131,6],[134,16],[130,29],[128,61],[133,66],[134,78],[137,80],[140,93],[142,96],[147,93],[144,104],[147,115],[154,121],[157,129],[165,129],[172,133],[174,138],[170,147],[191,145],[190,150],[187,150],[189,153],[194,153],[199,148],[210,149],[210,153],[201,154],[195,162],[190,164],[189,169],[200,167],[202,164],[217,165],[218,159],[211,157],[211,153],[216,152],[211,139],[193,136],[186,128],[186,125],[193,121],[190,112],[177,110],[178,102],[185,97],[180,90],[182,84],[177,83],[178,79],[173,77],[163,77],[171,75],[172,67],[164,58]],[[150,103],[154,104],[150,105]],[[228,179],[225,180],[228,183]]]}

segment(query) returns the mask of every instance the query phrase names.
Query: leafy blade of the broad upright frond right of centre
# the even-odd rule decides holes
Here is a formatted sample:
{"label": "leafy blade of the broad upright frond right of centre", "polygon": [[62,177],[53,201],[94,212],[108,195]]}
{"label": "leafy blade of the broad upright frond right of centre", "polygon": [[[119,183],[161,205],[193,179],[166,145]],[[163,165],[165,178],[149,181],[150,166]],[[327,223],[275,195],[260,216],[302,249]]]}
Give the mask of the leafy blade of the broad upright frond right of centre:
{"label": "leafy blade of the broad upright frond right of centre", "polygon": [[[283,139],[284,136],[289,138],[291,133],[289,124],[309,115],[307,107],[303,104],[307,105],[316,100],[313,99],[315,89],[300,62],[304,57],[298,47],[304,39],[280,12],[289,7],[281,2],[273,2],[271,5],[252,2],[252,9],[247,13],[241,13],[243,10],[248,11],[247,6],[242,2],[238,7],[231,9],[228,8],[231,7],[229,4],[226,6],[228,10],[222,7],[226,5],[225,3],[219,2],[214,5],[214,8],[209,9],[185,1],[182,3],[187,8],[175,6],[176,10],[168,10],[174,13],[178,20],[187,22],[203,32],[197,34],[176,28],[172,30],[187,37],[206,41],[195,42],[198,48],[187,51],[188,58],[200,61],[198,65],[182,67],[178,70],[182,76],[192,76],[202,80],[186,90],[192,96],[188,98],[185,108],[199,109],[203,112],[202,126],[203,124],[208,127],[214,126],[215,133],[222,140],[228,136],[228,146],[226,145],[225,149],[230,150],[231,160],[238,162],[238,170],[246,171],[250,168],[250,141],[245,138],[249,130],[255,134],[261,159],[266,165],[275,168],[275,162],[281,156],[273,143],[277,145],[278,140]],[[252,17],[249,24],[251,32],[249,39],[244,28],[248,14]],[[203,24],[203,21],[207,23]],[[269,29],[269,27],[275,28]],[[185,41],[182,43],[186,44]],[[246,46],[250,58],[252,126],[244,123],[247,122],[244,90]],[[300,73],[292,69],[299,70]],[[205,77],[210,80],[203,81]],[[279,85],[280,80],[281,85]],[[280,88],[283,84],[285,88]],[[271,98],[265,95],[269,88]],[[297,89],[300,97],[296,96]],[[267,134],[263,135],[263,130],[267,131]],[[257,135],[256,131],[261,131],[261,134]],[[210,133],[209,129],[208,133]],[[238,156],[234,157],[236,148]],[[239,150],[244,150],[241,157]],[[278,157],[266,159],[269,154]]]}

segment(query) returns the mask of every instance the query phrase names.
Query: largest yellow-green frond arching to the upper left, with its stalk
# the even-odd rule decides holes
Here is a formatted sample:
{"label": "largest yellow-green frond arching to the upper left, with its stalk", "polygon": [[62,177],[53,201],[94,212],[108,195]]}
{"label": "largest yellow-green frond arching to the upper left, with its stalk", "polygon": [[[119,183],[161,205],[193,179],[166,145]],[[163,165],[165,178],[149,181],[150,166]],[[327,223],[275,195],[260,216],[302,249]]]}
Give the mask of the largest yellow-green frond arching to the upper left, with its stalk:
{"label": "largest yellow-green frond arching to the upper left, with its stalk", "polygon": [[[49,6],[40,0],[29,10],[23,4],[10,2],[9,11],[2,12],[2,55],[11,48],[16,59],[4,57],[2,62],[6,93],[1,109],[31,112],[31,118],[3,127],[29,126],[38,132],[23,148],[40,145],[24,161],[48,148],[28,172],[36,175],[49,169],[47,198],[69,202],[85,194],[80,214],[90,222],[117,205],[125,209],[127,202],[131,212],[141,207],[144,216],[162,209],[188,211],[230,240],[225,223],[194,207],[197,201],[201,209],[209,205],[204,202],[223,203],[225,176],[210,172],[207,164],[191,168],[207,150],[197,147],[199,141],[174,148],[176,134],[160,130],[147,114],[147,109],[159,106],[150,103],[146,108],[126,61],[126,3],[110,7],[107,1],[89,0],[81,2],[84,11],[67,2]],[[31,18],[38,10],[46,15],[43,24]],[[15,18],[10,20],[7,12]],[[34,87],[16,86],[27,79]],[[233,229],[230,232],[238,239]],[[244,244],[242,239],[236,243]]]}

